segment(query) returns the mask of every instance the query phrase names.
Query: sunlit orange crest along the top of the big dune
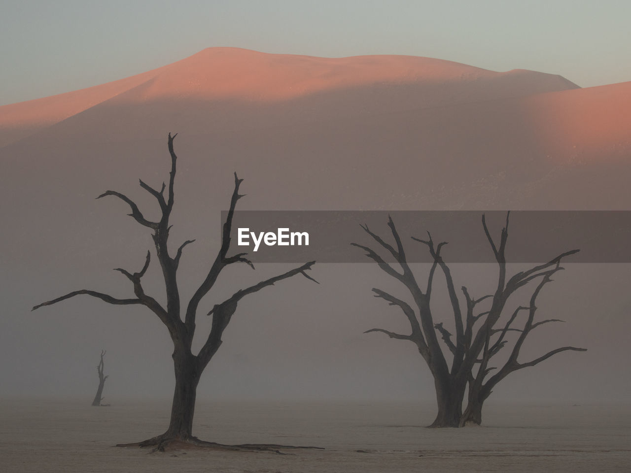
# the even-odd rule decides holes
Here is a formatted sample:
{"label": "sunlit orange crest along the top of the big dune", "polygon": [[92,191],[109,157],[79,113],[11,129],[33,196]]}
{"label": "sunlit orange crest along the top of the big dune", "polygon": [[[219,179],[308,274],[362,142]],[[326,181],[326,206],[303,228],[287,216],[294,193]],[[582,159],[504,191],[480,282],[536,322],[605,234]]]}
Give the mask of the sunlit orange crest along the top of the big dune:
{"label": "sunlit orange crest along the top of the big dune", "polygon": [[[394,98],[395,103],[386,110],[577,87],[552,74],[523,70],[495,73],[426,57],[323,58],[209,48],[182,61],[119,81],[0,107],[0,145],[33,134],[100,103],[135,105],[163,100],[203,100],[209,102],[208,108],[215,108],[216,102],[221,108],[225,101],[256,105],[334,90],[345,90],[353,96],[354,88],[372,86],[398,90],[389,93],[387,100]],[[112,101],[115,97],[117,99]],[[379,96],[363,99],[380,102]],[[363,108],[368,104],[342,105]]]}

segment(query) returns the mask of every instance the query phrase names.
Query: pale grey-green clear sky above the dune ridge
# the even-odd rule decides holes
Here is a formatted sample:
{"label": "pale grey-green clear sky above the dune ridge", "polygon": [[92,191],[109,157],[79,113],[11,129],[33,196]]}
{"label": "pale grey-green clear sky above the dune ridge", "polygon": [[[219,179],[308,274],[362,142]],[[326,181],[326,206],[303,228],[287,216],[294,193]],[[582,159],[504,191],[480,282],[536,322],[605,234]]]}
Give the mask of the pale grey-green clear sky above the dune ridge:
{"label": "pale grey-green clear sky above the dune ridge", "polygon": [[419,55],[605,85],[631,80],[628,18],[628,0],[8,0],[0,105],[143,73],[214,46]]}

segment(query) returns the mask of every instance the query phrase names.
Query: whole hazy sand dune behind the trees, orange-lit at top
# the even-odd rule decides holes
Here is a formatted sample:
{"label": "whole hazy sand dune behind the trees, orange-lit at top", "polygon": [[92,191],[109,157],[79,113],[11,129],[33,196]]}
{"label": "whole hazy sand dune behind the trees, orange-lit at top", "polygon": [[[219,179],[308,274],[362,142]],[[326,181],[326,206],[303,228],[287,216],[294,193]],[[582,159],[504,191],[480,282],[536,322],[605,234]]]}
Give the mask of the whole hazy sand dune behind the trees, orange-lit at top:
{"label": "whole hazy sand dune behind the trees, orange-lit at top", "polygon": [[[1,107],[3,395],[91,398],[103,348],[110,400],[170,395],[170,341],[150,315],[89,298],[28,312],[74,289],[129,294],[110,269],[138,271],[151,240],[122,202],[94,197],[119,190],[153,208],[138,178],[159,187],[167,176],[169,131],[179,132],[172,238],[198,238],[182,259],[190,293],[216,252],[235,170],[248,194],[241,209],[628,209],[630,88],[422,57],[218,48]],[[159,295],[156,269],[146,287]],[[277,270],[235,268],[208,309]],[[456,274],[482,293],[494,271]],[[562,344],[589,351],[518,373],[493,400],[627,399],[629,271],[567,265],[540,303],[567,323],[543,330],[524,356]],[[285,281],[240,304],[199,399],[432,399],[415,350],[362,334],[401,328],[370,295],[391,281],[364,265],[321,265],[313,276],[321,286]]]}

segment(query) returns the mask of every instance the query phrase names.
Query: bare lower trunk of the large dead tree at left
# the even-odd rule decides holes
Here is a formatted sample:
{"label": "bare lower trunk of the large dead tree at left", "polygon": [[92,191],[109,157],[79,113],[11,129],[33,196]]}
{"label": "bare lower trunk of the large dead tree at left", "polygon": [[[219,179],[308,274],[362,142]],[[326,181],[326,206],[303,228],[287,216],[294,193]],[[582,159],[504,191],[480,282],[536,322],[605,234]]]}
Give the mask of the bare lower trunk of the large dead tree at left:
{"label": "bare lower trunk of the large dead tree at left", "polygon": [[195,398],[199,378],[197,359],[189,353],[174,353],[175,392],[171,406],[171,420],[163,439],[187,440],[192,437]]}

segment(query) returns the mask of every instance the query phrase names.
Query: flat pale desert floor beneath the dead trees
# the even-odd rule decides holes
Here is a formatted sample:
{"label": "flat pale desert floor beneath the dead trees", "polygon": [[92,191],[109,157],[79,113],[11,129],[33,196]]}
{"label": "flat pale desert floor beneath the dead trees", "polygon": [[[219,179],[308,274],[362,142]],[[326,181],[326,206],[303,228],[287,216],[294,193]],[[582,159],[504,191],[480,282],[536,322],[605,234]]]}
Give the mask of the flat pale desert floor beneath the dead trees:
{"label": "flat pale desert floor beneath the dead trees", "polygon": [[203,402],[194,434],[221,443],[325,450],[175,451],[113,447],[162,433],[168,402],[110,407],[0,404],[0,470],[13,472],[631,471],[631,406],[492,405],[484,425],[427,429],[431,405]]}

